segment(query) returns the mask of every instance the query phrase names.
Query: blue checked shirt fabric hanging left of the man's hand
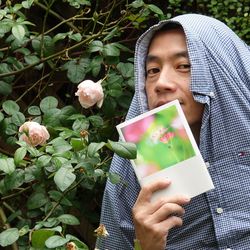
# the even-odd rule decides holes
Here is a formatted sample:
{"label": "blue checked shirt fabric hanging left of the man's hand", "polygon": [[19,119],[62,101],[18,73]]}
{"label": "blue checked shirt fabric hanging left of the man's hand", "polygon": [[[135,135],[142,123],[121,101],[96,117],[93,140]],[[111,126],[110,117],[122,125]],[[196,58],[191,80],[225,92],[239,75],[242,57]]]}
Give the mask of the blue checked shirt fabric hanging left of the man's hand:
{"label": "blue checked shirt fabric hanging left of the man's hand", "polygon": [[135,233],[131,211],[140,191],[140,185],[129,160],[115,155],[110,172],[119,174],[121,182],[112,184],[108,180],[106,183],[100,223],[104,224],[109,236],[98,238],[96,248],[133,249]]}

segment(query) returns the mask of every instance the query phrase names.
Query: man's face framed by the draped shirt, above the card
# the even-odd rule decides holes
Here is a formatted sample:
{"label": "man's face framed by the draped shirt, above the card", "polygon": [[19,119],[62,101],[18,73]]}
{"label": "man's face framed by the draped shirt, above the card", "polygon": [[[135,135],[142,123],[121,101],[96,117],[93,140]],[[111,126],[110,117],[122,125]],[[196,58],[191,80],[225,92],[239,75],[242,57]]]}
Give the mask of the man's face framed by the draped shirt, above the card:
{"label": "man's face framed by the draped shirt, above the card", "polygon": [[189,90],[190,62],[184,32],[162,31],[152,40],[146,62],[149,109],[178,99],[190,125],[201,123],[204,105]]}

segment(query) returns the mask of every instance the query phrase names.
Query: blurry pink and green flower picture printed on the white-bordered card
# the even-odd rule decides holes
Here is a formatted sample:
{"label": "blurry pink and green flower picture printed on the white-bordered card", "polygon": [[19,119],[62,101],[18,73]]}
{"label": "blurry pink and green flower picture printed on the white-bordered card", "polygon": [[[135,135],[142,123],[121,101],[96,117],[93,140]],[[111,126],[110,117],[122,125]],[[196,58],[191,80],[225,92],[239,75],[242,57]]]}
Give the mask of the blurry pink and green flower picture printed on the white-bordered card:
{"label": "blurry pink and green flower picture printed on the white-bordered card", "polygon": [[122,134],[137,146],[134,160],[139,178],[195,156],[176,106],[170,106],[126,125]]}

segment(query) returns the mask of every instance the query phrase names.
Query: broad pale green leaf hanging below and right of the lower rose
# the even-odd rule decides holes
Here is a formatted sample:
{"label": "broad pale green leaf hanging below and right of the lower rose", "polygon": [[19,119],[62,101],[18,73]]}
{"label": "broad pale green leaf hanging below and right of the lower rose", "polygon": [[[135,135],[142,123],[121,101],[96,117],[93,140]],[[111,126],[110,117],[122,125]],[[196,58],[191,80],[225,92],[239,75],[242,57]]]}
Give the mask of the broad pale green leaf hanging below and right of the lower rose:
{"label": "broad pale green leaf hanging below and right of the lower rose", "polygon": [[76,179],[72,166],[65,165],[61,167],[54,176],[54,181],[57,187],[63,192],[66,190]]}

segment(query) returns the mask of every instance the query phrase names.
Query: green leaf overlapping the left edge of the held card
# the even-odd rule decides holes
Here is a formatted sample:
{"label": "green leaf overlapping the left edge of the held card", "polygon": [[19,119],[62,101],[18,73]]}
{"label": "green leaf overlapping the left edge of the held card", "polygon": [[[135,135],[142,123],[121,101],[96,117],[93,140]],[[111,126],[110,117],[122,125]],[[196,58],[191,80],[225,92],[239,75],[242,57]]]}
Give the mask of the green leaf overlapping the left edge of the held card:
{"label": "green leaf overlapping the left edge of the held card", "polygon": [[108,140],[108,143],[106,144],[106,146],[123,158],[127,158],[127,159],[136,158],[136,145],[134,143],[114,142],[114,141]]}

